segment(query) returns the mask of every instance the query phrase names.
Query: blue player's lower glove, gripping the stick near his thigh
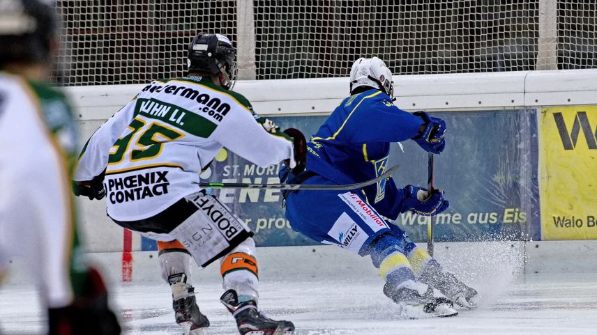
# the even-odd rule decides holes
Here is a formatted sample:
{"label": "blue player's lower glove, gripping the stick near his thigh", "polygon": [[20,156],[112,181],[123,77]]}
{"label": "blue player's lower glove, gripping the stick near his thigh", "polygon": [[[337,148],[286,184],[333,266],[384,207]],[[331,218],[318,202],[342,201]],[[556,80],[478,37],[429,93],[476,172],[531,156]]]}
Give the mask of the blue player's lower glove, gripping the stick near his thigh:
{"label": "blue player's lower glove, gripping the stick near his thigh", "polygon": [[434,189],[431,196],[428,196],[427,189],[413,185],[407,185],[404,190],[405,198],[402,200],[401,213],[410,210],[418,215],[428,217],[444,212],[450,205],[444,199],[444,191],[441,189]]}

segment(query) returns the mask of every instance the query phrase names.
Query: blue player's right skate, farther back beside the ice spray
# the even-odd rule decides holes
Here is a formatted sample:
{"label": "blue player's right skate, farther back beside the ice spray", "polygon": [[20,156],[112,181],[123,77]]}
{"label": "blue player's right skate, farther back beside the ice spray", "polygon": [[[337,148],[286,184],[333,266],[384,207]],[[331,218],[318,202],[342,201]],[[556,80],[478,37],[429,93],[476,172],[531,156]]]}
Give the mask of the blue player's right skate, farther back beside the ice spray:
{"label": "blue player's right skate, farther back beside the ice spray", "polygon": [[467,309],[475,309],[478,305],[478,293],[462,281],[459,281],[451,272],[437,272],[434,274],[423,274],[421,280],[430,286],[437,288],[439,292],[446,295],[453,303]]}

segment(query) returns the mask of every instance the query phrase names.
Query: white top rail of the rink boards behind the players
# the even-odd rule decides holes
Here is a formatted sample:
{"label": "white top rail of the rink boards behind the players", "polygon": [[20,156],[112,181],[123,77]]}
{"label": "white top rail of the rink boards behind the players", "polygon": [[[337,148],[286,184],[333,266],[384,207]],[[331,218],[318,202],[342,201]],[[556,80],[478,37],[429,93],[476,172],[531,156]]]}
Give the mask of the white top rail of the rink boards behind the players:
{"label": "white top rail of the rink boards behind the players", "polygon": [[[395,104],[407,111],[539,108],[597,104],[596,70],[394,76]],[[106,120],[146,84],[67,87],[82,121]],[[259,114],[329,114],[348,95],[348,78],[241,80]]]}

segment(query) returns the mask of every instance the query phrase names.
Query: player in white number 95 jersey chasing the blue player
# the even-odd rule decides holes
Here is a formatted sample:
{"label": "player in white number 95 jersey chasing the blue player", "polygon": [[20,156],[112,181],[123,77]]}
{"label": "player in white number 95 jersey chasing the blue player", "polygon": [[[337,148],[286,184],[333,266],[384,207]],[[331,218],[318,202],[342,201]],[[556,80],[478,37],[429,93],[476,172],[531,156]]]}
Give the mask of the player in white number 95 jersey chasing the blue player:
{"label": "player in white number 95 jersey chasing the blue player", "polygon": [[199,187],[199,173],[224,147],[259,166],[296,164],[292,137],[257,122],[248,100],[230,91],[235,57],[226,36],[199,33],[188,47],[188,77],[152,81],[89,139],[75,192],[105,196],[116,224],[159,241],[163,278],[186,333],[209,326],[190,283],[192,257],[200,267],[220,260],[221,301],[241,334],[292,334],[292,322],[257,311],[252,232]]}

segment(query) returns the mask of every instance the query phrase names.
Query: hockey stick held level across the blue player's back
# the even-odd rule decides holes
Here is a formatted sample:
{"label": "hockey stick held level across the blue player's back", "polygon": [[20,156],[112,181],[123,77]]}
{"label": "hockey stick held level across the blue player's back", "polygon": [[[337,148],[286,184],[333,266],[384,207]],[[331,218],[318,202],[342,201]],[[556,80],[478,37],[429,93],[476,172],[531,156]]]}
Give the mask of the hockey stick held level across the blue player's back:
{"label": "hockey stick held level across the blue player's back", "polygon": [[398,165],[392,166],[388,171],[382,173],[377,178],[367,180],[366,182],[357,182],[356,184],[348,185],[303,185],[303,184],[245,184],[240,182],[199,182],[200,187],[211,189],[310,189],[310,190],[338,190],[348,191],[350,189],[360,189],[371,184],[379,182],[379,180],[390,178],[398,171]]}

